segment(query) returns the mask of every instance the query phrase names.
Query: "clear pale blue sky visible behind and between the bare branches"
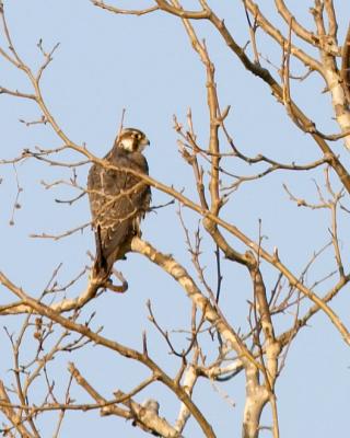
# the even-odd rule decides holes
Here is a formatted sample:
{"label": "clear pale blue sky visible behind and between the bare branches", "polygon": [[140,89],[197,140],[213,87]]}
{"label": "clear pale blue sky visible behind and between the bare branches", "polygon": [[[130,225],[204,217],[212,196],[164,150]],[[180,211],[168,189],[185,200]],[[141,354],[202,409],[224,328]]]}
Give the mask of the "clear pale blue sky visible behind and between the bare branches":
{"label": "clear pale blue sky visible behind and between the bare branches", "polygon": [[[120,5],[131,3],[137,7],[144,2],[125,1]],[[215,5],[218,14],[225,18],[226,25],[238,43],[244,44],[248,33],[241,2],[219,3]],[[273,9],[272,2],[266,3],[267,12]],[[151,147],[145,152],[151,175],[168,185],[173,184],[177,189],[186,187],[186,195],[196,199],[190,169],[177,152],[172,117],[176,114],[180,122],[185,122],[186,111],[190,106],[199,140],[206,145],[206,79],[203,68],[188,44],[179,20],[164,13],[142,18],[114,15],[94,8],[88,0],[5,1],[4,4],[13,42],[31,66],[38,66],[40,62],[36,46],[39,38],[43,38],[46,49],[57,42],[60,43],[54,62],[45,72],[43,92],[50,111],[69,137],[78,143],[85,142],[96,155],[104,155],[113,143],[121,110],[125,107],[125,124],[144,130],[151,140]],[[196,2],[188,1],[188,4],[194,5]],[[346,4],[346,1],[337,2],[339,16],[343,20],[339,23],[341,37],[349,21]],[[312,25],[310,18],[304,15],[308,8],[298,8],[300,10],[295,12],[300,14],[299,18],[305,24]],[[278,18],[276,20],[280,23]],[[265,153],[284,162],[305,163],[319,158],[313,141],[291,125],[282,106],[271,97],[270,90],[244,70],[208,25],[197,23],[196,28],[200,37],[206,37],[209,53],[217,65],[222,106],[232,106],[228,127],[236,145],[250,155]],[[259,50],[272,62],[280,62],[280,49],[271,45],[270,39],[262,38]],[[0,59],[0,85],[21,91],[30,90],[23,73],[9,67],[3,59]],[[320,93],[324,84],[311,77],[298,87],[292,91],[307,114],[315,117],[324,131],[336,130],[330,120],[329,97]],[[24,148],[60,146],[59,139],[49,127],[27,128],[18,122],[19,118],[39,118],[40,114],[33,103],[1,95],[0,111],[1,158],[16,157]],[[346,164],[349,164],[341,143],[336,148],[345,155]],[[232,166],[233,173],[243,170],[254,172],[237,162]],[[84,168],[78,171],[82,184],[85,182],[86,170]],[[52,182],[69,177],[70,173],[66,169],[30,161],[18,166],[18,174],[24,188],[20,196],[22,208],[16,211],[14,227],[10,227],[16,185],[12,166],[0,168],[0,177],[3,178],[0,185],[0,233],[3,249],[0,253],[0,268],[27,292],[36,295],[43,290],[52,269],[60,262],[63,262],[60,283],[77,275],[89,263],[86,251],[93,251],[94,242],[90,230],[85,230],[82,235],[77,234],[58,242],[33,240],[28,234],[60,233],[86,222],[90,212],[85,197],[72,207],[55,203],[55,198],[74,196],[74,191],[67,187],[46,191],[40,184],[40,181]],[[317,200],[312,177],[323,184],[322,171],[313,175],[273,173],[258,184],[245,184],[233,194],[232,204],[224,210],[228,220],[255,239],[258,235],[258,219],[261,218],[264,234],[268,237],[265,246],[271,250],[278,245],[281,258],[295,274],[302,270],[313,251],[328,241],[329,212],[298,209],[289,201],[282,183],[287,183],[296,195]],[[168,198],[153,191],[153,200],[154,204],[160,204]],[[346,205],[347,201],[346,199]],[[159,210],[156,215],[150,215],[143,226],[143,237],[161,251],[174,254],[194,273],[190,256],[183,243],[184,232],[176,210],[177,206],[171,206]],[[185,211],[185,218],[190,228],[196,227],[197,217]],[[347,238],[350,230],[347,220],[347,217],[340,217],[345,254],[349,251]],[[240,251],[245,250],[240,242],[231,241]],[[205,244],[212,251],[208,243]],[[208,252],[203,258],[208,265],[208,277],[214,281],[211,275],[214,266],[212,253]],[[328,252],[310,273],[310,284],[319,278],[322,273],[329,273],[331,266],[334,256]],[[222,309],[234,327],[246,326],[247,300],[252,300],[248,278],[241,267],[232,266],[225,261],[223,267],[226,277],[221,297]],[[138,255],[128,256],[128,261],[121,263],[121,269],[129,281],[128,292],[120,297],[104,295],[89,304],[84,314],[96,310],[95,326],[103,325],[106,336],[135,348],[141,348],[141,333],[145,328],[150,355],[164,365],[167,372],[174,374],[179,362],[170,359],[167,346],[148,322],[145,301],[151,299],[159,322],[170,331],[188,326],[190,302],[172,279]],[[262,265],[262,269],[266,270],[267,287],[270,289],[277,274],[271,274],[266,265]],[[77,285],[73,292],[79,291],[84,284],[85,278]],[[317,292],[324,292],[329,285],[328,281]],[[2,302],[5,302],[9,295],[3,289],[1,293]],[[332,308],[349,326],[349,299],[345,291],[337,299]],[[287,322],[281,321],[281,327],[291,324],[292,318],[285,315]],[[18,323],[19,318],[1,321],[2,325],[7,324],[13,330]],[[175,342],[182,338],[180,335],[174,336]],[[7,345],[5,343],[5,336],[1,335],[1,344]],[[110,391],[118,388],[130,390],[140,376],[148,376],[144,368],[137,364],[88,346],[85,351],[79,351],[77,356],[58,357],[56,366],[52,365],[51,377],[55,376],[56,380],[61,377],[62,382],[67,382],[68,361],[74,361],[83,376],[94,382],[106,397],[112,396]],[[11,359],[3,358],[0,376],[4,379],[8,378],[7,370],[10,367]],[[281,437],[346,436],[350,426],[348,367],[349,348],[329,321],[322,314],[317,315],[312,320],[311,327],[303,330],[293,343],[288,365],[278,380]],[[59,371],[58,376],[55,371]],[[58,380],[57,384],[60,383]],[[205,381],[199,384],[195,401],[208,415],[218,437],[238,437],[244,403],[243,376],[220,388],[229,393],[235,407],[230,407],[221,395],[212,391],[211,384]],[[137,400],[141,402],[152,395],[159,397],[161,415],[174,420],[178,411],[174,396],[161,385],[154,385],[152,390],[145,391]],[[72,392],[77,401],[91,401],[75,387]],[[57,414],[47,418],[49,420],[46,419],[42,427],[45,431],[43,437],[50,436],[50,420],[56,422]],[[268,415],[266,418],[269,420]],[[119,418],[100,418],[97,413],[68,413],[61,437],[70,438],[78,434],[88,438],[97,434],[106,438],[144,436]],[[268,435],[268,431],[261,434]],[[200,437],[201,433],[190,422],[185,436]]]}

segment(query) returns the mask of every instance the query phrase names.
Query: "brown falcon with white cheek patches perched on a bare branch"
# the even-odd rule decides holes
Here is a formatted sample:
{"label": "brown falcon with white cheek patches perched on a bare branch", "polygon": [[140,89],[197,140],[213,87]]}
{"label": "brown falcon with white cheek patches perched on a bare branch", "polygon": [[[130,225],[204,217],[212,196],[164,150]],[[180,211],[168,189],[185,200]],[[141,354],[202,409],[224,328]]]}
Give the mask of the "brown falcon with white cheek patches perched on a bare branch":
{"label": "brown falcon with white cheek patches perched on a bare branch", "polygon": [[105,160],[117,169],[93,164],[88,176],[88,193],[95,231],[94,275],[108,278],[113,264],[124,258],[135,235],[140,235],[140,220],[149,210],[150,186],[136,174],[148,174],[142,150],[150,145],[139,129],[125,128]]}

